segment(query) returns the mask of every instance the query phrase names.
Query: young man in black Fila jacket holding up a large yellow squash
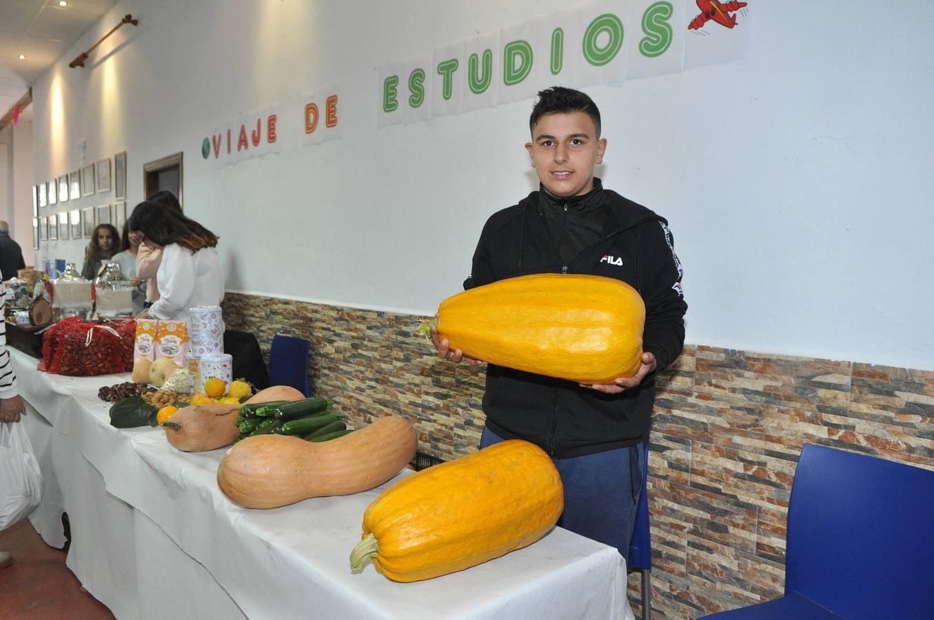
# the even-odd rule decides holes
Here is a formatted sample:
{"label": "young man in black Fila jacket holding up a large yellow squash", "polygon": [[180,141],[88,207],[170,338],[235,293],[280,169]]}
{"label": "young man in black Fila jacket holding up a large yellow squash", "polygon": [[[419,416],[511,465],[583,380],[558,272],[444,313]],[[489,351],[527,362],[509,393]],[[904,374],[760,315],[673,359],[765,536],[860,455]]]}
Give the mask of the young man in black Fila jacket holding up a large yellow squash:
{"label": "young man in black Fila jacket holding up a large yellow squash", "polygon": [[[664,218],[603,189],[593,176],[606,139],[590,97],[561,87],[539,92],[529,125],[526,149],[539,189],[488,219],[464,289],[532,273],[622,280],[645,303],[644,353],[635,376],[608,385],[489,364],[480,447],[525,439],[544,448],[564,485],[559,525],[615,546],[628,559],[655,377],[684,346],[681,263]],[[432,343],[441,358],[480,363],[450,350],[437,330]]]}

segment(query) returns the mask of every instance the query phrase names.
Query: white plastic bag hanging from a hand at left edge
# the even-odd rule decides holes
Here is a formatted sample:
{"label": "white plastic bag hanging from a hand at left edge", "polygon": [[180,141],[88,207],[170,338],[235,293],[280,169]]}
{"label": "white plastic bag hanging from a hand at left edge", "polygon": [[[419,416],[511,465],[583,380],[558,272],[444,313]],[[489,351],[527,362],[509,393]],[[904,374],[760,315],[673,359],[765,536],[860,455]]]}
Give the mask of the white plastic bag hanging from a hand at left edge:
{"label": "white plastic bag hanging from a hand at left edge", "polygon": [[0,530],[28,516],[42,500],[42,472],[21,422],[0,423]]}

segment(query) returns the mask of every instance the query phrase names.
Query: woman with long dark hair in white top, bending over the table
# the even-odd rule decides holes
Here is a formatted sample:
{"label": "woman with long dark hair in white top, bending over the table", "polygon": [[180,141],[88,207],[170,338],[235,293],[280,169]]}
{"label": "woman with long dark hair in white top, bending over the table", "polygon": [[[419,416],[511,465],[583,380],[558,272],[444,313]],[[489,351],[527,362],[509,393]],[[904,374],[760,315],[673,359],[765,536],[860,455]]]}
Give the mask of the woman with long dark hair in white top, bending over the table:
{"label": "woman with long dark hair in white top, bending over the table", "polygon": [[175,209],[149,201],[137,204],[127,223],[144,245],[163,253],[156,272],[159,299],[140,317],[188,320],[189,308],[219,305],[224,275],[216,234]]}

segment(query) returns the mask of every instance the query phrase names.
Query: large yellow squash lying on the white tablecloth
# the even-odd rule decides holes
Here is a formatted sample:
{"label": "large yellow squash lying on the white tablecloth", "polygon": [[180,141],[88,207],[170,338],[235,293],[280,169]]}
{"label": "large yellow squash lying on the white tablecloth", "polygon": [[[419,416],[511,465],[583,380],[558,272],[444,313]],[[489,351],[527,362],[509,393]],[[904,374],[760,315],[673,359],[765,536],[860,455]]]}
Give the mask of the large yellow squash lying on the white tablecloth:
{"label": "large yellow squash lying on the white tablecloth", "polygon": [[545,536],[564,510],[558,470],[522,440],[493,444],[404,477],[363,514],[350,567],[367,557],[397,582],[462,571]]}

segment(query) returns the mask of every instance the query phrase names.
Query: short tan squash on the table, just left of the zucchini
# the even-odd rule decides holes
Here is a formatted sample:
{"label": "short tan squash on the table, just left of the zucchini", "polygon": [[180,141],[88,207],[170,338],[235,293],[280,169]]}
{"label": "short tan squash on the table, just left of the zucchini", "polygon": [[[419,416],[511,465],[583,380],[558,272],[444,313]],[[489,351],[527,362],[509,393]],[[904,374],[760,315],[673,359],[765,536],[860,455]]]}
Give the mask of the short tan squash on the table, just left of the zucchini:
{"label": "short tan squash on the table, just left of the zucchini", "polygon": [[240,434],[233,422],[238,404],[196,404],[182,407],[163,422],[165,439],[184,452],[204,452],[230,445]]}

